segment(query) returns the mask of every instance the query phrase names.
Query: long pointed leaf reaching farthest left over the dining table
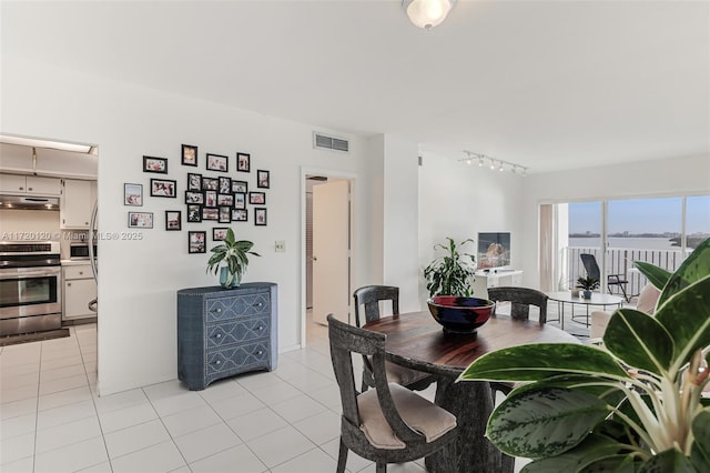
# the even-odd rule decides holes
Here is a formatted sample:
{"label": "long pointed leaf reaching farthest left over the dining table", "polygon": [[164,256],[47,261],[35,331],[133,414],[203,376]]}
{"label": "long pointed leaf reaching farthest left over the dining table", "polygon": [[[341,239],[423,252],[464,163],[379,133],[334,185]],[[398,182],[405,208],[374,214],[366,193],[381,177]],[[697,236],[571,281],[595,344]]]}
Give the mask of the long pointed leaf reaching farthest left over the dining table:
{"label": "long pointed leaf reaching farthest left over the dining table", "polygon": [[577,343],[534,343],[487,353],[474,361],[458,381],[537,381],[560,374],[629,378],[607,352]]}

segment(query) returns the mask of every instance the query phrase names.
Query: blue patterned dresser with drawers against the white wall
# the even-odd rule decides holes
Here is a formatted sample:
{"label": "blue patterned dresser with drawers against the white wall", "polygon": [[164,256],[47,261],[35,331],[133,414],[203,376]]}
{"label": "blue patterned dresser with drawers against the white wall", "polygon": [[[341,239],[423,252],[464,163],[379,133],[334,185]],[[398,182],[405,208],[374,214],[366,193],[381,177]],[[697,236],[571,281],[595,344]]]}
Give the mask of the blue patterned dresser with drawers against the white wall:
{"label": "blue patterned dresser with drawers against the white wall", "polygon": [[191,390],[247,371],[276,369],[276,284],[178,291],[178,378]]}

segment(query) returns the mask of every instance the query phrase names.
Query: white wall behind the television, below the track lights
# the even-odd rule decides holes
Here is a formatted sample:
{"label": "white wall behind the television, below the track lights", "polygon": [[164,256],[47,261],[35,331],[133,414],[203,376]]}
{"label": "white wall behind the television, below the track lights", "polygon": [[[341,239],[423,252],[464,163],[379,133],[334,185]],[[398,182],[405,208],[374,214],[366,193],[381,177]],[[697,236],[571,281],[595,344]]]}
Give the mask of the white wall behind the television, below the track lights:
{"label": "white wall behind the television, below the track lights", "polygon": [[[510,232],[510,265],[520,269],[527,242],[523,233],[520,205],[527,178],[493,171],[478,164],[425,155],[419,167],[419,298],[426,306],[428,292],[423,270],[443,252],[437,243],[452,236],[457,243],[477,240],[478,232]],[[476,244],[478,242],[476,241]],[[467,244],[466,252],[477,246]]]}

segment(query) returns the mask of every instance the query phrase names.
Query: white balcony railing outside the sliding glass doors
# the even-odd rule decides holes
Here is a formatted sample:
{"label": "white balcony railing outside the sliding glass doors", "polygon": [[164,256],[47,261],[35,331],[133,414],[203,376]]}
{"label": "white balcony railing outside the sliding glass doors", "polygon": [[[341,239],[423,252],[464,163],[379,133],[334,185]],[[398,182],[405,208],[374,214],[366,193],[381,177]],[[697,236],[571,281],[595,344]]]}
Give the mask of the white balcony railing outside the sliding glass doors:
{"label": "white balcony railing outside the sliding glass doors", "polygon": [[[673,272],[680,266],[686,256],[690,254],[692,250],[688,250],[683,254],[679,249],[672,250],[659,250],[659,249],[639,249],[639,248],[609,248],[607,249],[607,274],[620,274],[621,279],[629,281],[626,285],[626,293],[629,296],[637,295],[641,289],[647,284],[648,280],[643,276],[636,266],[635,261],[646,261],[651,264],[656,264],[667,271]],[[574,288],[577,278],[586,276],[587,271],[581,263],[581,253],[594,254],[597,259],[597,263],[601,266],[601,249],[587,248],[587,246],[567,246],[565,248],[566,261],[567,261],[567,274],[569,274],[568,286]],[[604,279],[604,278],[602,278]],[[601,281],[605,284],[606,281]],[[617,286],[611,286],[617,292]],[[606,290],[606,288],[605,288]]]}

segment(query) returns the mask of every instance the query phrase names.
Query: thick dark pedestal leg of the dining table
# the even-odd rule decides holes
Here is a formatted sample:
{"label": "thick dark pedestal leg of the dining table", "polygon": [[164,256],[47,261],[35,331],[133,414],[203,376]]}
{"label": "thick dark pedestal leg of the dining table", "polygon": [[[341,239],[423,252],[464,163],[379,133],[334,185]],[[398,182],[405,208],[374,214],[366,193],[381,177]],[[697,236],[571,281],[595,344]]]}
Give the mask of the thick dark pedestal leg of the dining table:
{"label": "thick dark pedestal leg of the dining table", "polygon": [[456,415],[458,440],[454,459],[437,452],[426,457],[427,471],[434,473],[496,472],[513,473],[515,460],[504,455],[484,436],[493,411],[490,384],[481,381],[455,383],[455,378],[437,382],[436,403]]}

